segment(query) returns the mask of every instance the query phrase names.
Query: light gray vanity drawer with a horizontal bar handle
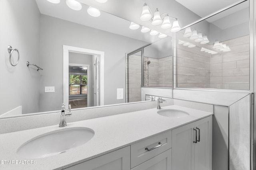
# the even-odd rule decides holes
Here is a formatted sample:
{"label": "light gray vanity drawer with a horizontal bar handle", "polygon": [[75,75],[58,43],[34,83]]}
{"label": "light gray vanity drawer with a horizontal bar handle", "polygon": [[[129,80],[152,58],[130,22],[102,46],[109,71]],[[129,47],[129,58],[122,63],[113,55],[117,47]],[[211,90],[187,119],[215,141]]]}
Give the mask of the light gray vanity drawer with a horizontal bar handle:
{"label": "light gray vanity drawer with a horizontal bar handle", "polygon": [[170,149],[171,138],[172,131],[167,131],[131,145],[131,168]]}

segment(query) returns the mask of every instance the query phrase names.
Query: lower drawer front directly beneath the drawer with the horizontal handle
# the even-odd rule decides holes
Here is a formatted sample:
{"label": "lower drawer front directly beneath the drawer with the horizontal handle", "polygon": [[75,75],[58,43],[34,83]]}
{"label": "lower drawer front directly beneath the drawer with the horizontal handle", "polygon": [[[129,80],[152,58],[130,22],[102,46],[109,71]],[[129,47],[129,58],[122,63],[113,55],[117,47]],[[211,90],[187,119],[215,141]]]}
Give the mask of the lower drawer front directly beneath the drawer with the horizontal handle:
{"label": "lower drawer front directly beneath the drawer with the horizontal handle", "polygon": [[172,149],[166,150],[154,158],[132,168],[132,170],[171,170],[171,155]]}

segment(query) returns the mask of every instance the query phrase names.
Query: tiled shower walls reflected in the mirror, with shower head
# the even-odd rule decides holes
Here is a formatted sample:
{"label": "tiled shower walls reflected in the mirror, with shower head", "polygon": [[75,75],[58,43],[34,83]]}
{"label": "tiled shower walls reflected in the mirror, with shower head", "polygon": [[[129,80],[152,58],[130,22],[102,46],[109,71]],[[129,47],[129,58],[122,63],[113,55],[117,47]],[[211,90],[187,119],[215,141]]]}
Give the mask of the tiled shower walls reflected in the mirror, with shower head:
{"label": "tiled shower walls reflected in the mirror, with shower head", "polygon": [[[161,59],[144,57],[144,61],[150,61],[150,64],[144,62],[144,86],[172,87],[172,56]],[[130,55],[128,69],[126,66],[126,101],[128,98],[129,102],[141,101],[141,57],[139,55]]]}

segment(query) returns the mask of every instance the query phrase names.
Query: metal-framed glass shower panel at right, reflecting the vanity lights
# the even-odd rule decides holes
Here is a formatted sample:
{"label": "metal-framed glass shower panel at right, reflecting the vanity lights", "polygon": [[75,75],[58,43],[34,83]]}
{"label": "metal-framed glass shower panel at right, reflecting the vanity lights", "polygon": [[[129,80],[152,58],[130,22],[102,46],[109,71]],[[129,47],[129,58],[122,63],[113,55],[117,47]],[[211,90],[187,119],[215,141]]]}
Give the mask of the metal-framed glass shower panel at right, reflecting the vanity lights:
{"label": "metal-framed glass shower panel at right, reflecting the vanity lights", "polygon": [[177,87],[249,90],[249,2],[202,22],[177,33]]}

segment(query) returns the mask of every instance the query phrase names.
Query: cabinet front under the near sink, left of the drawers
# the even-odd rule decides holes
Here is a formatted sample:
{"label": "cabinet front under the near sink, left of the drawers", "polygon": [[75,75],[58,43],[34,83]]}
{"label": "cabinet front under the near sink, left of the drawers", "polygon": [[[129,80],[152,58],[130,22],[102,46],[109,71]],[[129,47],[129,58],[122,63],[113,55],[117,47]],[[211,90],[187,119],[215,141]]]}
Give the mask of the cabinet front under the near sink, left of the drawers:
{"label": "cabinet front under the near sink, left of the drawers", "polygon": [[130,146],[71,166],[66,170],[130,170]]}

